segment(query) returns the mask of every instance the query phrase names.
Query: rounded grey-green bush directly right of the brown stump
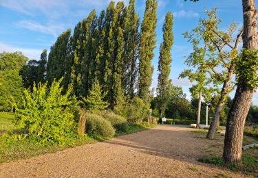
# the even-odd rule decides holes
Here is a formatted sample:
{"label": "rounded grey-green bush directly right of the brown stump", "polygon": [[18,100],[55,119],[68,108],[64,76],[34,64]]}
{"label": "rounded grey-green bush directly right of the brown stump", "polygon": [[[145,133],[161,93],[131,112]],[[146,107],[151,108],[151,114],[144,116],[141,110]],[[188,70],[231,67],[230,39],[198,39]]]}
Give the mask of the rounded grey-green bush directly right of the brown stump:
{"label": "rounded grey-green bush directly right of the brown stump", "polygon": [[86,114],[86,132],[103,138],[111,138],[115,135],[115,129],[108,120],[97,114]]}

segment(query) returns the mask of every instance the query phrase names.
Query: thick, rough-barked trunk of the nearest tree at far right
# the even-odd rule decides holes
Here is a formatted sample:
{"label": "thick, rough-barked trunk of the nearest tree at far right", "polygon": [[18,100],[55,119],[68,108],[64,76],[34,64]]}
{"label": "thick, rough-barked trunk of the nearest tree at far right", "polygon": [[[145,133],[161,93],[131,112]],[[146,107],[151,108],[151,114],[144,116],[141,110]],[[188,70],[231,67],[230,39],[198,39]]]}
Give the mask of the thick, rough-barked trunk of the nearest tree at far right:
{"label": "thick, rough-barked trunk of the nearest tree at far right", "polygon": [[[242,5],[244,14],[243,48],[257,49],[257,10],[255,10],[255,0],[242,0]],[[244,79],[239,80],[226,123],[223,157],[227,164],[241,164],[244,124],[253,92],[254,89],[250,90]]]}

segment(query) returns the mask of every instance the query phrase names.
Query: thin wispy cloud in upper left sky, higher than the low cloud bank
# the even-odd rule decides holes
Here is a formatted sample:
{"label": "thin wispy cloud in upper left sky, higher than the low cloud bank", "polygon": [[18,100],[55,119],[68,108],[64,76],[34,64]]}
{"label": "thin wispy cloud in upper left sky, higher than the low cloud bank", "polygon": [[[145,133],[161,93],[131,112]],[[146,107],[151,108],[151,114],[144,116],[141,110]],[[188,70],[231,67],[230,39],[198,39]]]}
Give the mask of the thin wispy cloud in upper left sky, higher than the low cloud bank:
{"label": "thin wispy cloud in upper left sky, higher than the low cloud bank", "polygon": [[18,27],[23,27],[25,29],[30,29],[32,31],[38,31],[44,34],[52,34],[54,36],[57,36],[61,31],[63,31],[63,24],[60,25],[42,25],[40,23],[34,22],[34,21],[19,21],[16,23]]}

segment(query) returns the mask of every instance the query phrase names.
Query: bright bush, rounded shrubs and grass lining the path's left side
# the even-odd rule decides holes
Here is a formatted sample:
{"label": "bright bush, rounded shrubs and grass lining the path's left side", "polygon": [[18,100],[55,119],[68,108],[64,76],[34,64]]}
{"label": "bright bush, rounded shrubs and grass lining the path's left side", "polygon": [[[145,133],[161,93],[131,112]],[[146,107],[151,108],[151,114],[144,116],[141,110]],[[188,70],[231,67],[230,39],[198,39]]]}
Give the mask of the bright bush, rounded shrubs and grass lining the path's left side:
{"label": "bright bush, rounded shrubs and grass lining the path's left side", "polygon": [[[63,93],[61,81],[26,89],[23,105],[15,114],[0,113],[0,162],[52,153],[81,144],[107,140],[115,136],[148,129],[147,123],[127,123],[127,119],[107,110],[82,110],[86,130],[77,135],[78,110],[69,90]],[[94,108],[95,109],[95,108]],[[51,111],[51,112],[50,112]],[[14,125],[16,123],[16,125]]]}

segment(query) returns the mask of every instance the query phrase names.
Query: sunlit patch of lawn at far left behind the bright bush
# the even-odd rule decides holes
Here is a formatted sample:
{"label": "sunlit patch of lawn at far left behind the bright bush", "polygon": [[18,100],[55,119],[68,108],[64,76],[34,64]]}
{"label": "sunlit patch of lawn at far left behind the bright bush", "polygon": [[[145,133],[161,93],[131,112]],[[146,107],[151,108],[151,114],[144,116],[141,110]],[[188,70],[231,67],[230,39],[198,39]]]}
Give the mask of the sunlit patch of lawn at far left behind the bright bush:
{"label": "sunlit patch of lawn at far left behind the bright bush", "polygon": [[14,114],[8,112],[0,112],[0,133],[3,132],[12,132],[17,127],[15,127],[14,123],[12,122],[14,119]]}

